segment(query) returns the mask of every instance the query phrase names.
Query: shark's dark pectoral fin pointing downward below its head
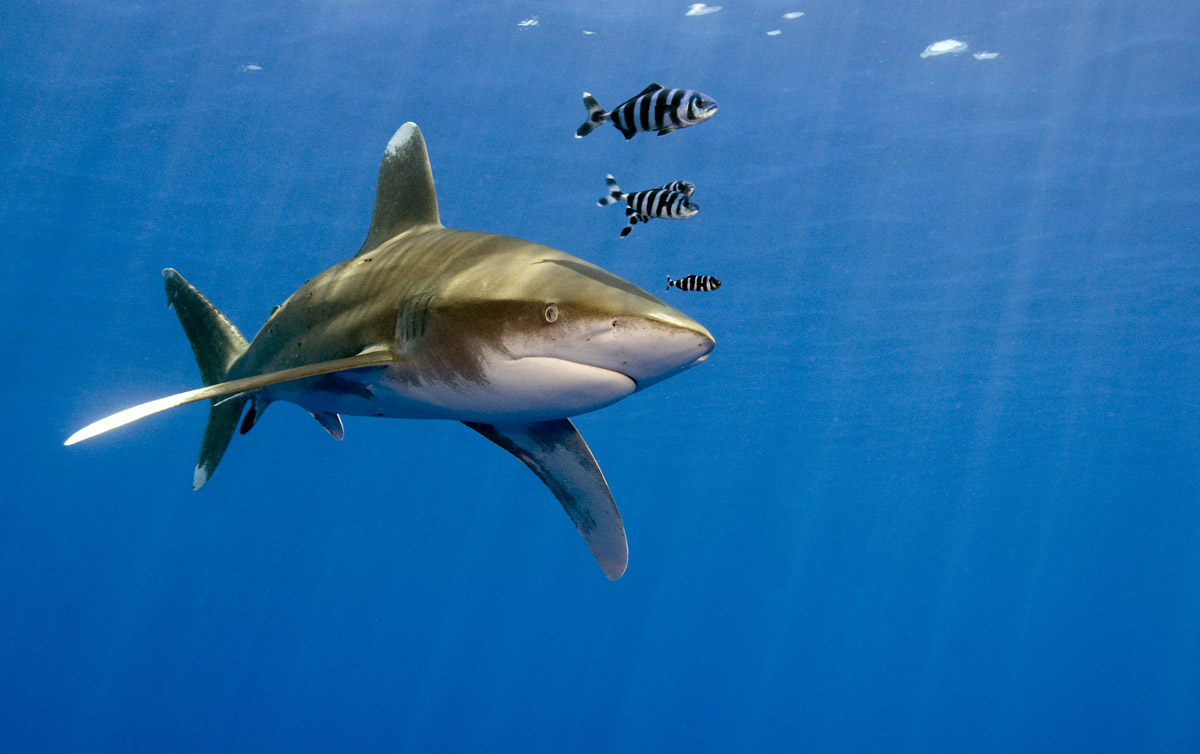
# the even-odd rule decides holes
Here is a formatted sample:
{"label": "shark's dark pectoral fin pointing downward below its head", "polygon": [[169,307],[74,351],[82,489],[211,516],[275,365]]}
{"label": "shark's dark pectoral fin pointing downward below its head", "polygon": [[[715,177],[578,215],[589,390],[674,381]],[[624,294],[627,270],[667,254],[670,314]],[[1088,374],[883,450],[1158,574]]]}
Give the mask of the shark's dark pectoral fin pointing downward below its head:
{"label": "shark's dark pectoral fin pointing downward below its head", "polygon": [[570,419],[534,424],[463,424],[533,469],[571,516],[604,574],[613,581],[620,579],[629,563],[625,527],[608,491],[608,483]]}

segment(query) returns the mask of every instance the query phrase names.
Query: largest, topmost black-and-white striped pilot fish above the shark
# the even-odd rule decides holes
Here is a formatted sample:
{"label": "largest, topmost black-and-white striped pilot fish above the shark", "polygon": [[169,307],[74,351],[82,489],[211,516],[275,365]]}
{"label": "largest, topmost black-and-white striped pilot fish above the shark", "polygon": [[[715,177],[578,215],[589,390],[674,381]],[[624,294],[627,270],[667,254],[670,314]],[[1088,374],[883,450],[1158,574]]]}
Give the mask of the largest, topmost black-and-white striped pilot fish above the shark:
{"label": "largest, topmost black-and-white striped pilot fish above the shark", "polygon": [[666,136],[676,128],[704,122],[716,114],[716,101],[708,95],[690,89],[664,89],[659,84],[650,84],[607,113],[595,97],[584,91],[583,106],[588,108],[588,119],[575,131],[577,139],[610,120],[626,139],[631,139],[649,131]]}

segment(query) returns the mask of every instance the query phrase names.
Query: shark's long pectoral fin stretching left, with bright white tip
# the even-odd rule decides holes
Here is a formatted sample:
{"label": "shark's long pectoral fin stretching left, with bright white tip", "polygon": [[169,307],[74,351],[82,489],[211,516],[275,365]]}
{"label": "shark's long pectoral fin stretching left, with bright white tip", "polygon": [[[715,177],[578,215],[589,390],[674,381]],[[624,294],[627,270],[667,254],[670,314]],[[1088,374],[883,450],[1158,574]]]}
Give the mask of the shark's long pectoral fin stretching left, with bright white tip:
{"label": "shark's long pectoral fin stretching left, with bright white tip", "polygon": [[[294,366],[292,369],[280,370],[277,372],[269,372],[266,375],[256,375],[253,377],[244,377],[241,379],[230,379],[229,382],[217,383],[215,385],[209,385],[206,388],[199,388],[197,390],[188,390],[186,393],[176,393],[175,395],[168,395],[167,397],[160,397],[154,401],[134,406],[132,408],[126,408],[110,417],[106,417],[100,421],[94,421],[88,426],[83,427],[74,435],[67,438],[67,445],[73,445],[77,442],[83,442],[96,435],[102,435],[109,430],[115,430],[119,426],[125,426],[138,419],[144,419],[150,414],[156,414],[160,411],[167,411],[168,408],[175,408],[176,406],[184,406],[186,403],[194,403],[196,401],[204,401],[215,397],[223,397],[227,395],[236,395],[239,393],[253,393],[256,390],[262,390],[268,385],[274,385],[281,382],[289,382],[292,379],[304,379],[305,377],[316,377],[318,375],[329,375],[331,372],[343,372],[352,369],[364,369],[367,366],[386,366],[388,364],[395,364],[397,361],[396,355],[389,349],[372,349],[360,353],[354,357],[347,357],[344,359],[334,359],[331,361],[319,361],[317,364],[306,364],[304,366]],[[241,411],[241,405],[239,402],[239,411]],[[324,424],[324,423],[322,423]],[[232,426],[235,426],[236,421]],[[329,427],[326,427],[329,429]]]}

